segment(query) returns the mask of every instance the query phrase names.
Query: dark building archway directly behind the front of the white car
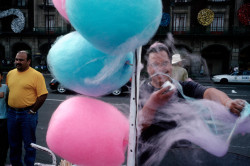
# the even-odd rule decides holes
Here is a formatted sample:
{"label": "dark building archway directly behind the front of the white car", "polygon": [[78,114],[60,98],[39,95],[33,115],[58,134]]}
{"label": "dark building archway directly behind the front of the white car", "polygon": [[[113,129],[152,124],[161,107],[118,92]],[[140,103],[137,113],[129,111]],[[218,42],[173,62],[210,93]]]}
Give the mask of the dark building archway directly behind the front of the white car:
{"label": "dark building archway directly behind the front of the white car", "polygon": [[231,52],[224,45],[213,44],[201,50],[201,56],[206,61],[210,75],[229,73]]}

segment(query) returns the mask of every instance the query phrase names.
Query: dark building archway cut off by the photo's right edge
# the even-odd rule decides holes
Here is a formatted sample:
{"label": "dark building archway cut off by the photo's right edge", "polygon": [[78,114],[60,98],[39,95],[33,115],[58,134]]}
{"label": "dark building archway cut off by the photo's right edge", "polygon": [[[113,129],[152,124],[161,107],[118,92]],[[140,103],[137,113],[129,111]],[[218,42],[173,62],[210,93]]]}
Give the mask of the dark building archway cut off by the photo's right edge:
{"label": "dark building archway cut off by the photo's right edge", "polygon": [[238,62],[240,70],[250,70],[250,45],[239,51]]}

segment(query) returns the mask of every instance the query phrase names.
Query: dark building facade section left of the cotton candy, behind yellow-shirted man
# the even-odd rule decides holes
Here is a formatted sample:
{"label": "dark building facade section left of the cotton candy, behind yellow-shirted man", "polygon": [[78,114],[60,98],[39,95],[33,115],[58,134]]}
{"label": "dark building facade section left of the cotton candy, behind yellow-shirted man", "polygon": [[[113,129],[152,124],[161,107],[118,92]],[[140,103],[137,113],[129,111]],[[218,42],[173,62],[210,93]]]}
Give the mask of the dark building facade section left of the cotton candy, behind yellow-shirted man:
{"label": "dark building facade section left of the cotton candy, behind yellow-shirted man", "polygon": [[[13,21],[17,19],[13,30]],[[46,56],[58,36],[72,30],[52,0],[0,0],[0,60],[4,70],[13,68],[16,53],[32,55],[32,67],[46,68]]]}

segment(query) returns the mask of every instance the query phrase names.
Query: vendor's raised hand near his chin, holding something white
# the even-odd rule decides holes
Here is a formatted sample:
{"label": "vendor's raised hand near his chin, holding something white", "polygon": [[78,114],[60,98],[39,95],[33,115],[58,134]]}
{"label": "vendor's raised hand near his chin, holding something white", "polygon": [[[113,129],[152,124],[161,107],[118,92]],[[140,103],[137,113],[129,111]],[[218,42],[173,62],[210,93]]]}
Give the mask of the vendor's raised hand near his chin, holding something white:
{"label": "vendor's raised hand near his chin, holding something white", "polygon": [[146,103],[146,106],[150,109],[158,109],[159,107],[162,107],[164,104],[166,104],[171,96],[174,94],[176,89],[169,90],[170,86],[167,86],[165,88],[162,88],[158,91],[155,91],[150,96],[148,102]]}

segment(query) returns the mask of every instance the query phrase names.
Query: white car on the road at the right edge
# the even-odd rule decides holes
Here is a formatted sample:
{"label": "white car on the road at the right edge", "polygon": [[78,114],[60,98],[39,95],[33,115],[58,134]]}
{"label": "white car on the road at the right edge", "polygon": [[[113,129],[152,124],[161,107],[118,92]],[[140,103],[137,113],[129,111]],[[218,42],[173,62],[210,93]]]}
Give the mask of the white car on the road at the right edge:
{"label": "white car on the road at the right edge", "polygon": [[250,70],[235,71],[231,74],[215,75],[215,83],[250,83]]}

